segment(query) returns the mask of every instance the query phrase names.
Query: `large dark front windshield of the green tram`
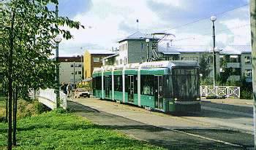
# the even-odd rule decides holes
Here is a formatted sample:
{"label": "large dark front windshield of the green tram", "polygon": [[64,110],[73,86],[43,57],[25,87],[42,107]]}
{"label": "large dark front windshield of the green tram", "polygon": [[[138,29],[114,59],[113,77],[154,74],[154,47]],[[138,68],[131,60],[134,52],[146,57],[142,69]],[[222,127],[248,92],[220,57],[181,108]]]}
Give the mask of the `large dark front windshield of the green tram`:
{"label": "large dark front windshield of the green tram", "polygon": [[180,101],[197,100],[199,95],[198,68],[173,68],[173,98]]}

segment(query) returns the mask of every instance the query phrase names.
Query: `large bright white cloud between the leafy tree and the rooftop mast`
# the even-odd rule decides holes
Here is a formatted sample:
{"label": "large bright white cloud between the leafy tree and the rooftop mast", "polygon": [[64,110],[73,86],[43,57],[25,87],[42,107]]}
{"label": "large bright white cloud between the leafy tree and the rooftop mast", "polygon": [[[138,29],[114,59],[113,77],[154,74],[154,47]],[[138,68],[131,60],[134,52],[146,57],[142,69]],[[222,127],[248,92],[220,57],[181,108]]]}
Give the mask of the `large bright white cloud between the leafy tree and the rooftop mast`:
{"label": "large bright white cloud between the leafy tree and the rooftop mast", "polygon": [[[147,17],[148,16],[148,17]],[[120,1],[94,0],[91,4],[89,12],[83,12],[72,18],[80,21],[83,25],[91,26],[85,30],[71,29],[74,39],[61,42],[64,49],[61,55],[67,53],[65,45],[75,47],[91,43],[101,48],[111,48],[117,46],[117,39],[129,36],[129,34],[137,31],[136,19],[139,20],[139,28],[155,28],[162,23],[157,15],[146,7],[146,1]],[[133,31],[132,31],[133,30]],[[89,47],[85,45],[84,47]]]}

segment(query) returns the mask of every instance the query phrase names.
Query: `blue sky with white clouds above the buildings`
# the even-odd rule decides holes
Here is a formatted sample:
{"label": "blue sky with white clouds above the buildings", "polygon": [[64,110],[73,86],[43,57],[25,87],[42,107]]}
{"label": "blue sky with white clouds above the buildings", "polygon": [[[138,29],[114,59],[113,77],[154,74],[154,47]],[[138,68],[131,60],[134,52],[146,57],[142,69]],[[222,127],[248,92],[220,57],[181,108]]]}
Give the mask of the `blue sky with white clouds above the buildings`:
{"label": "blue sky with white clouds above the buildings", "polygon": [[[250,44],[249,0],[60,0],[59,15],[85,25],[69,29],[60,56],[83,55],[86,49],[111,49],[137,31],[173,33],[177,47],[212,44],[211,15],[216,15],[217,47]],[[192,23],[195,22],[195,23]]]}

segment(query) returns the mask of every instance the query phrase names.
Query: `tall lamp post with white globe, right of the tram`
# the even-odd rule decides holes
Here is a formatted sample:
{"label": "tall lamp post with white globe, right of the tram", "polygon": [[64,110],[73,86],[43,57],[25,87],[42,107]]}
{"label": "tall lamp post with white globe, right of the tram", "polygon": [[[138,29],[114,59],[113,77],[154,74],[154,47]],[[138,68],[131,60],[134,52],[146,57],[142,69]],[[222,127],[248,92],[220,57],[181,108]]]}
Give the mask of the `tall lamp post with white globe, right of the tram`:
{"label": "tall lamp post with white globe, right of the tram", "polygon": [[214,71],[214,87],[215,87],[215,79],[216,79],[216,56],[215,56],[215,26],[214,22],[217,20],[216,16],[211,16],[210,20],[212,21],[212,55],[213,55],[213,71]]}

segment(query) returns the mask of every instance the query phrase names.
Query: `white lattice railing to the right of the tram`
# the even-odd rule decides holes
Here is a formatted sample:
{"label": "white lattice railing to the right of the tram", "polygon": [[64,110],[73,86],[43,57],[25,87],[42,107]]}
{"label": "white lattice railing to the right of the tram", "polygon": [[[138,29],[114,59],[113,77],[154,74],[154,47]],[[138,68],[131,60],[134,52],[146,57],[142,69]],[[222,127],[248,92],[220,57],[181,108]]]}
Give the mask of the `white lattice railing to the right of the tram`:
{"label": "white lattice railing to the right of the tram", "polygon": [[201,97],[211,95],[225,96],[225,98],[240,98],[240,87],[200,86]]}

